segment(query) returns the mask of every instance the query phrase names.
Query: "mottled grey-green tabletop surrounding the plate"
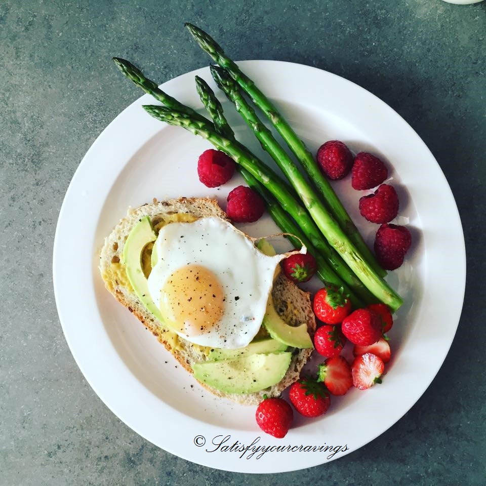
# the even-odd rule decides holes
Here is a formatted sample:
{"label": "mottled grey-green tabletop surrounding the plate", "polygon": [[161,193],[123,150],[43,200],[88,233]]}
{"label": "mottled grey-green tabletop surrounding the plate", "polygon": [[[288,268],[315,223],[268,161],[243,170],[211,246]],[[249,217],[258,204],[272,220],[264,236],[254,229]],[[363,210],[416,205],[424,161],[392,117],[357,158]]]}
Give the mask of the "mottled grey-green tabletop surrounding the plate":
{"label": "mottled grey-green tabletop surrounding the plate", "polygon": [[[468,284],[443,367],[397,424],[321,467],[262,478],[158,450],[103,405],[62,335],[51,276],[62,198],[91,143],[140,95],[110,58],[134,59],[159,82],[207,65],[184,20],[213,33],[233,59],[317,66],[382,98],[432,150],[461,213]],[[4,0],[0,484],[483,485],[485,35],[486,3]],[[454,292],[444,262],[446,277]]]}

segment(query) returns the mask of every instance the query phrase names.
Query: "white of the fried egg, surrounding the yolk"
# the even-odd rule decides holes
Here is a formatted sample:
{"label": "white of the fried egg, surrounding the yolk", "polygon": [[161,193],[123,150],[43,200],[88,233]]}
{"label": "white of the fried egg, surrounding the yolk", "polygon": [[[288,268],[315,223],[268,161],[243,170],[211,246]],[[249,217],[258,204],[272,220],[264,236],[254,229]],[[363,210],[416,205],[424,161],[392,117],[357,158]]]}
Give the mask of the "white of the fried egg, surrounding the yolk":
{"label": "white of the fried egg, surrounding the yolk", "polygon": [[201,346],[247,346],[260,329],[275,267],[286,255],[264,255],[250,237],[214,217],[162,227],[155,247],[158,260],[148,277],[148,289],[157,308],[169,276],[188,264],[211,270],[225,293],[223,316],[217,325],[197,336],[177,334]]}

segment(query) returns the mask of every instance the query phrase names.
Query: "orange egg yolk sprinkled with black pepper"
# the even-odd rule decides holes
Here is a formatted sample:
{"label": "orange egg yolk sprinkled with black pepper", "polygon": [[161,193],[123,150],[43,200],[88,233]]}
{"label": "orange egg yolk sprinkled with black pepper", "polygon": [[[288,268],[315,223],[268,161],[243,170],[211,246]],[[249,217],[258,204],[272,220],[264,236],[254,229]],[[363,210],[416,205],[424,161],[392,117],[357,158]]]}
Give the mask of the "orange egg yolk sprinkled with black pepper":
{"label": "orange egg yolk sprinkled with black pepper", "polygon": [[216,275],[201,265],[186,265],[167,279],[160,299],[163,315],[188,336],[213,329],[221,319],[224,291]]}

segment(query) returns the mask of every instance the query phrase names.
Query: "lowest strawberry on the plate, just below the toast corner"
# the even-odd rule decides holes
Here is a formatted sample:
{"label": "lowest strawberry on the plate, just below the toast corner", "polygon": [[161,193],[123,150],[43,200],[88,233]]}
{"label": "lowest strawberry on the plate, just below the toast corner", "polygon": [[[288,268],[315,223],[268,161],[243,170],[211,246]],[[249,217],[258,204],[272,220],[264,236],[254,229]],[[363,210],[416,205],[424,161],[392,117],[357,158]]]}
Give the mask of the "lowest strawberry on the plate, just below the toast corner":
{"label": "lowest strawberry on the plate, just below the toast corner", "polygon": [[281,439],[285,437],[292,425],[294,412],[283,398],[267,398],[257,407],[255,418],[259,427],[267,434]]}

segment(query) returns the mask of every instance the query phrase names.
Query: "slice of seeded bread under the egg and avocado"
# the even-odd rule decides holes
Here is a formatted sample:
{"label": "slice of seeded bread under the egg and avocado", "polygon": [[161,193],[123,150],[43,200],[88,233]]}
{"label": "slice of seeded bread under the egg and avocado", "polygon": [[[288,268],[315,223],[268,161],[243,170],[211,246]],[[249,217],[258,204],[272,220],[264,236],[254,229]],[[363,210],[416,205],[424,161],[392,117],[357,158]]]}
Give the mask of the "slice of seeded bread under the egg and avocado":
{"label": "slice of seeded bread under the egg and avocado", "polygon": [[[105,282],[106,289],[125,307],[128,308],[149,329],[157,339],[164,344],[181,365],[192,374],[192,364],[205,361],[207,353],[205,348],[177,337],[174,340],[172,333],[164,327],[148,312],[139,301],[132,289],[125,273],[125,267],[121,263],[121,255],[125,241],[133,226],[144,216],[149,216],[154,227],[161,222],[170,219],[171,215],[184,215],[187,219],[198,219],[216,216],[227,220],[226,214],[218,206],[216,199],[206,198],[179,198],[166,201],[156,201],[129,210],[127,216],[119,221],[111,233],[105,238],[100,254],[100,272]],[[315,317],[312,311],[309,293],[301,291],[285,276],[279,275],[274,282],[272,297],[278,314],[291,326],[307,324],[311,337],[315,331]],[[217,396],[229,398],[241,404],[258,404],[263,395],[278,396],[282,390],[294,383],[298,378],[312,349],[297,350],[291,360],[290,367],[284,378],[270,388],[250,394],[224,393],[206,384],[202,384]]]}

